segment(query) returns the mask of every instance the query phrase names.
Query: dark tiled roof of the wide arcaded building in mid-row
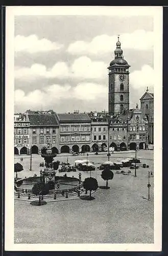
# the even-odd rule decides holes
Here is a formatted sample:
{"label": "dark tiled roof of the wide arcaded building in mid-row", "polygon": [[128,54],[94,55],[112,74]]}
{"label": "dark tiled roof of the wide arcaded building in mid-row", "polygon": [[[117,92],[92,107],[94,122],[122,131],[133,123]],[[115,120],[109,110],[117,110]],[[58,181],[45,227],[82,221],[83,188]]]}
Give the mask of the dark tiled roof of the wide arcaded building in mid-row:
{"label": "dark tiled roof of the wide arcaded building in mid-row", "polygon": [[57,114],[59,121],[91,121],[88,114]]}

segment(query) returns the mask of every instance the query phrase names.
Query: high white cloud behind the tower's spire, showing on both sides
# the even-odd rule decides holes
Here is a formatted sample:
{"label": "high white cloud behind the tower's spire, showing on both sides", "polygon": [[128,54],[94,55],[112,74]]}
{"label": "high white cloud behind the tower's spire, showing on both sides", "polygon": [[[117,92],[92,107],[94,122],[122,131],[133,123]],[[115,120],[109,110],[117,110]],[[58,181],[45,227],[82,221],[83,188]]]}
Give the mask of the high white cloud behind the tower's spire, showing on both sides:
{"label": "high white cloud behind the tower's spire, showing on both sides", "polygon": [[[117,36],[98,35],[90,42],[75,41],[67,48],[70,54],[104,54],[113,52],[116,47]],[[153,47],[154,36],[152,31],[135,30],[133,33],[124,33],[120,36],[123,49],[149,50]]]}

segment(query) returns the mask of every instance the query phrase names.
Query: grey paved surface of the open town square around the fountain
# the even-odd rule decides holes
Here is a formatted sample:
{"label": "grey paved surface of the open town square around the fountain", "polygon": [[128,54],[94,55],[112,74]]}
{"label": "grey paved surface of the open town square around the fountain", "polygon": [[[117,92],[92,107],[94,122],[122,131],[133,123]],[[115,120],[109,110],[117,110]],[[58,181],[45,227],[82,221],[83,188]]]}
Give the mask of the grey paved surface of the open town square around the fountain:
{"label": "grey paved surface of the open town square around the fountain", "polygon": [[[114,153],[110,160],[121,160],[134,156],[135,152]],[[20,157],[23,161],[20,162]],[[55,160],[73,164],[85,156],[58,155]],[[137,177],[134,170],[130,175],[115,174],[109,180],[110,189],[98,188],[92,201],[77,197],[43,206],[33,206],[30,201],[15,199],[15,243],[17,238],[22,243],[153,243],[153,177],[151,177],[151,200],[148,201],[148,171],[153,172],[153,151],[138,151],[137,158],[149,168],[139,167]],[[88,160],[95,166],[107,160],[107,154],[89,154]],[[40,155],[15,156],[15,163],[20,162],[24,170],[19,178],[39,176]],[[128,169],[127,167],[123,169]],[[97,178],[99,186],[106,185],[101,178],[102,171],[96,168],[91,176]],[[81,172],[82,180],[90,173]],[[64,173],[56,173],[64,175]],[[78,178],[79,172],[67,173]]]}

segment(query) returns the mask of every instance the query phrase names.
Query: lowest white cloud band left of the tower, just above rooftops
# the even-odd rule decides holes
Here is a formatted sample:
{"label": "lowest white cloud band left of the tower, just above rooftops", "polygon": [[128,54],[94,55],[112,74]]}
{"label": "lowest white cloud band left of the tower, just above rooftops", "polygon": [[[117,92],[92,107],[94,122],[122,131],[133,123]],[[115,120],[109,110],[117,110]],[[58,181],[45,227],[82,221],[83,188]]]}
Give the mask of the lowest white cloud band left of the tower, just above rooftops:
{"label": "lowest white cloud band left of the tower, just above rooftops", "polygon": [[[23,90],[15,90],[15,106],[19,109],[39,109],[52,108],[52,106],[66,99],[75,100],[92,100],[95,104],[99,100],[107,98],[107,87],[98,83],[78,83],[75,88],[69,84],[52,84],[42,90],[34,90],[25,94]],[[66,103],[65,103],[66,104]],[[68,108],[68,106],[67,106]]]}

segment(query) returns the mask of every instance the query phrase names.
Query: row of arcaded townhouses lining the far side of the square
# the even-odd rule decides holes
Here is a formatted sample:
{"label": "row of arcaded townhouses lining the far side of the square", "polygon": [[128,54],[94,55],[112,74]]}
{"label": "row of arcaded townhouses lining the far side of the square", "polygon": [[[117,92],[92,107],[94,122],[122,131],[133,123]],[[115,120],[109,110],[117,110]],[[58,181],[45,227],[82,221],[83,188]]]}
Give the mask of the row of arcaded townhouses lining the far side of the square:
{"label": "row of arcaded townhouses lining the far side of the square", "polygon": [[[152,143],[151,123],[141,98],[141,109],[117,116],[108,113],[32,112],[14,115],[14,154],[40,154],[47,143],[57,154],[72,152],[147,149]],[[149,103],[148,103],[149,104]]]}

